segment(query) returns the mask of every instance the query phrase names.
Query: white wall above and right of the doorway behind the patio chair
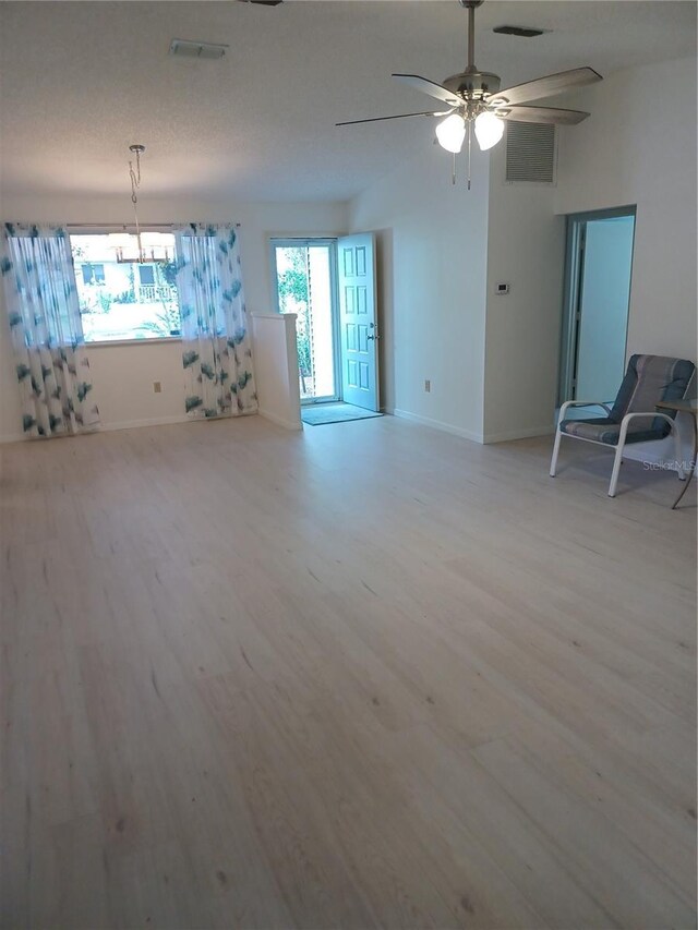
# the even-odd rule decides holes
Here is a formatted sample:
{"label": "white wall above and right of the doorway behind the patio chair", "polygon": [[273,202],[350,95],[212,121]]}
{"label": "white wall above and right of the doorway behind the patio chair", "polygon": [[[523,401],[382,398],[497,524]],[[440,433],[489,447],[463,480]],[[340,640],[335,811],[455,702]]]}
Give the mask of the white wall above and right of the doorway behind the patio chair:
{"label": "white wall above and right of the doorway behind the patio chair", "polygon": [[[627,354],[695,362],[696,59],[616,72],[574,106],[592,116],[561,133],[555,210],[637,204]],[[669,442],[629,454],[673,459]]]}

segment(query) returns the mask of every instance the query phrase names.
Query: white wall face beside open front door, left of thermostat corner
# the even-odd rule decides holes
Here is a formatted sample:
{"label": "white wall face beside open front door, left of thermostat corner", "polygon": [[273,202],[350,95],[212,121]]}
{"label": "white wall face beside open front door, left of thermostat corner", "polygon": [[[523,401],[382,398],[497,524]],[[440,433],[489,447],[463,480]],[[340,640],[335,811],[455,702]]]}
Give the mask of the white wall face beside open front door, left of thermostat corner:
{"label": "white wall face beside open front door, left of thermostat corner", "polygon": [[378,234],[385,408],[481,440],[489,159],[474,155],[470,191],[462,166],[454,188],[429,145],[357,197],[349,224]]}

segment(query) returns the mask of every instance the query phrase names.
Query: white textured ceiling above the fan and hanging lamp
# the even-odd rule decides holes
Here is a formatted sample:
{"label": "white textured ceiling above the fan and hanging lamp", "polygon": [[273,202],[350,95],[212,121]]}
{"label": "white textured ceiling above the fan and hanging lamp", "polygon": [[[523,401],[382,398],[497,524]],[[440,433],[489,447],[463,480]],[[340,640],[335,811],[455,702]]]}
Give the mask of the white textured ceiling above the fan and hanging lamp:
{"label": "white textured ceiling above the fan and hanging lamp", "polygon": [[[441,81],[465,67],[456,0],[0,2],[0,16],[2,186],[16,193],[122,193],[141,142],[152,195],[347,200],[429,145],[433,121],[335,121],[431,109],[390,72]],[[492,33],[504,23],[551,32]],[[230,50],[172,58],[174,37]],[[477,12],[477,64],[503,86],[695,51],[693,0],[486,0]]]}

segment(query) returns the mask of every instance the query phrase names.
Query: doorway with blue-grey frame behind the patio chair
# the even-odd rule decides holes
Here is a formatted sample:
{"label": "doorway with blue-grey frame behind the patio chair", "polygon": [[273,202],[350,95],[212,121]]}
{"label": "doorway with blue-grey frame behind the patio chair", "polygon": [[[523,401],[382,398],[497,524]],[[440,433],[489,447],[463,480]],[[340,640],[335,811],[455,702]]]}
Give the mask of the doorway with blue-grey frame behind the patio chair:
{"label": "doorway with blue-grey frame behind the patio chair", "polygon": [[567,217],[558,403],[613,400],[625,371],[635,207]]}

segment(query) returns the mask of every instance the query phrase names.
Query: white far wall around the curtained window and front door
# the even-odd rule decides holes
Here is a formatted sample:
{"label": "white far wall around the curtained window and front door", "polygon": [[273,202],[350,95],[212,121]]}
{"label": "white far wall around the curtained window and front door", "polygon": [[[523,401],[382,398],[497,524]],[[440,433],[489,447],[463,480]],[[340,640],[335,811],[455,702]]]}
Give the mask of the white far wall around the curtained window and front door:
{"label": "white far wall around the curtained window and front door", "polygon": [[[3,194],[2,218],[37,222],[131,222],[129,195],[91,197],[13,197]],[[142,198],[140,216],[148,222],[240,222],[240,252],[248,311],[273,309],[268,239],[273,234],[335,235],[346,231],[342,204],[227,204]],[[0,288],[1,290],[1,288]],[[0,294],[0,302],[3,295]],[[21,438],[19,392],[4,310],[0,312],[0,440]],[[181,343],[92,347],[89,361],[103,426],[147,425],[184,420]],[[161,394],[153,383],[161,383]]]}

